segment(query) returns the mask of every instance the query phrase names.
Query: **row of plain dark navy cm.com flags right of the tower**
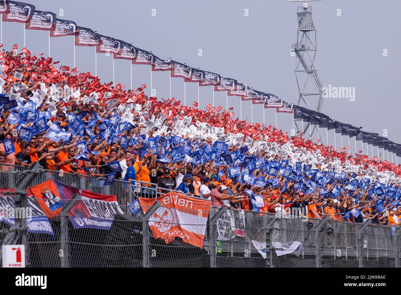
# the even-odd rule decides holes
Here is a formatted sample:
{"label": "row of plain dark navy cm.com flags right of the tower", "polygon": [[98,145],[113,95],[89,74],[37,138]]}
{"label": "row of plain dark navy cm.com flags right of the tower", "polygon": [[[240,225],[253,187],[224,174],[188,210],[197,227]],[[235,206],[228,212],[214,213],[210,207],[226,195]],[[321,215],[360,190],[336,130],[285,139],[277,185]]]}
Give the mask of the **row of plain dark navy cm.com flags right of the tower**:
{"label": "row of plain dark navy cm.com flags right of the tower", "polygon": [[378,133],[362,131],[360,130],[362,127],[355,127],[350,124],[338,122],[323,113],[294,105],[294,119],[302,119],[310,124],[318,125],[319,127],[326,127],[328,130],[335,129],[336,133],[348,135],[349,137],[356,136],[356,140],[362,140],[368,144],[378,146],[380,149],[396,153],[397,156],[401,157],[401,144],[392,142],[383,136],[379,136]]}

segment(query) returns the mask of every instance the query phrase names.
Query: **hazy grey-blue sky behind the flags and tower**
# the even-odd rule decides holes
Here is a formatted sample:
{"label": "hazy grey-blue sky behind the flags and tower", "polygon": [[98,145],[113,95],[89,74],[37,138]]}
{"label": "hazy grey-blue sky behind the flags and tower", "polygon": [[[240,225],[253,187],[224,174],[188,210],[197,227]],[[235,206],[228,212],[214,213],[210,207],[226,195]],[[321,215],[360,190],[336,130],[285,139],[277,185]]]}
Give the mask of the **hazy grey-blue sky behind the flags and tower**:
{"label": "hazy grey-blue sky behind the flags and tower", "polygon": [[[191,67],[237,79],[253,89],[273,93],[286,102],[298,102],[291,44],[297,37],[296,10],[301,3],[267,1],[41,1],[30,0],[36,10],[63,9],[59,18],[99,34],[122,39],[162,59],[171,57]],[[333,119],[367,132],[387,129],[387,137],[401,142],[398,130],[400,79],[401,3],[394,0],[323,0],[309,2],[317,29],[318,74],[325,86],[355,87],[355,101],[327,98],[322,112]],[[152,9],[156,16],[152,16]],[[244,16],[248,9],[249,16]],[[337,10],[341,9],[341,16]],[[3,43],[7,49],[22,45],[23,24],[3,22]],[[26,30],[26,47],[32,54],[48,55],[48,33]],[[20,47],[22,48],[22,46]],[[203,56],[198,56],[202,49]],[[387,49],[388,56],[383,56]],[[73,65],[73,37],[51,38],[51,56]],[[112,79],[112,58],[98,54],[97,74],[104,82]],[[94,72],[95,48],[77,47],[80,71]],[[150,90],[150,66],[133,65],[133,87],[146,83]],[[169,72],[153,72],[157,97],[169,96]],[[115,60],[115,81],[130,87],[130,62]],[[213,87],[200,87],[201,108],[212,102]],[[186,83],[186,104],[197,101],[196,83]],[[184,83],[172,78],[172,96],[184,101]],[[229,97],[229,107],[240,115],[239,97]],[[215,104],[226,106],[226,92],[215,92]],[[310,103],[315,108],[316,101]],[[242,103],[242,116],[251,118],[251,102]],[[261,105],[253,106],[254,122],[263,122]],[[275,124],[274,109],[265,109],[267,125]],[[292,128],[291,114],[278,114],[277,125],[284,132]],[[321,129],[324,143],[326,130]],[[385,135],[385,134],[384,134]],[[314,136],[315,137],[315,136]],[[337,147],[340,145],[337,136]],[[334,144],[333,130],[329,143]],[[343,136],[343,146],[348,138]],[[354,139],[351,139],[351,151]],[[364,149],[366,144],[364,145]],[[357,151],[360,150],[358,142]],[[370,150],[369,146],[369,150]],[[374,153],[377,152],[375,148]],[[369,154],[370,155],[370,154]]]}

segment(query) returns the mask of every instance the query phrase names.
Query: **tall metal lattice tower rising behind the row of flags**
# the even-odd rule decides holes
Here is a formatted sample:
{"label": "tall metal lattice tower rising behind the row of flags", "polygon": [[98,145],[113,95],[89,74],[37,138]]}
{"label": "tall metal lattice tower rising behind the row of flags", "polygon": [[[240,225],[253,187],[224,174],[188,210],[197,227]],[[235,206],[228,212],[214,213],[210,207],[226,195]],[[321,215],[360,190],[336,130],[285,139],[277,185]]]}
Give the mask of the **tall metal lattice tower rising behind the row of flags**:
{"label": "tall metal lattice tower rising behind the row of flags", "polygon": [[[300,105],[301,100],[306,104],[308,109],[311,109],[308,105],[308,100],[310,102],[310,96],[318,97],[318,102],[316,105],[316,112],[320,112],[323,105],[324,94],[322,92],[322,82],[318,76],[316,70],[316,27],[312,18],[312,6],[308,2],[321,1],[321,0],[288,0],[289,2],[304,2],[302,6],[298,6],[296,12],[298,19],[298,36],[297,42],[292,44],[292,51],[296,54],[295,63],[295,76],[298,83],[299,99],[298,105]],[[313,83],[311,83],[313,81]],[[299,121],[302,119],[295,119]],[[306,132],[308,130],[310,123],[308,122],[306,126],[298,128],[298,124],[295,122],[298,131]],[[313,132],[316,129],[316,125],[311,132],[311,138]],[[322,140],[322,138],[320,138]]]}

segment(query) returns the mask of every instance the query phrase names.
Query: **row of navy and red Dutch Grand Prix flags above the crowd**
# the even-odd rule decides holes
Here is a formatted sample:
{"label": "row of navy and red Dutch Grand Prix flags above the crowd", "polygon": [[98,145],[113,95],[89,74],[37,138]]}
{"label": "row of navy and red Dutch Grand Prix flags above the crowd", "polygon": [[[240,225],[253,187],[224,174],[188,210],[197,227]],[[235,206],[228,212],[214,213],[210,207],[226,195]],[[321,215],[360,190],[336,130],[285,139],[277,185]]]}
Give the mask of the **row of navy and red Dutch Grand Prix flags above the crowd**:
{"label": "row of navy and red Dutch Grand Prix flags above the crowd", "polygon": [[151,65],[152,71],[170,71],[171,77],[183,78],[185,82],[196,82],[200,86],[212,85],[215,91],[227,91],[227,96],[240,96],[241,100],[252,100],[252,104],[264,104],[265,108],[276,108],[277,112],[292,113],[291,104],[274,94],[253,90],[248,85],[238,83],[236,79],[195,69],[178,61],[161,59],[128,42],[77,26],[72,20],[57,18],[53,12],[35,10],[35,6],[31,4],[9,0],[0,0],[0,3],[0,13],[6,22],[22,22],[26,29],[50,31],[50,37],[73,35],[75,46],[95,46],[97,53],[111,53],[114,59],[128,59],[137,65]]}

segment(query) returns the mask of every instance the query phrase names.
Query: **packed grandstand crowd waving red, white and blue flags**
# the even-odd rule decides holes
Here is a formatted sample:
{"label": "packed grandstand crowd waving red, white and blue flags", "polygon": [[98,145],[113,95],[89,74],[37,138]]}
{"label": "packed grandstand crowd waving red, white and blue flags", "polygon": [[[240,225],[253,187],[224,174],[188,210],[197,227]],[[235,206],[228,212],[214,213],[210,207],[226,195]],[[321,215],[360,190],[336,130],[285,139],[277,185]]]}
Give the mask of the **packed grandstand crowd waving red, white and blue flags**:
{"label": "packed grandstand crowd waving red, white and blue flags", "polygon": [[124,90],[101,83],[16,45],[0,59],[4,164],[115,173],[140,182],[148,197],[156,197],[148,189],[157,184],[158,193],[177,190],[230,209],[285,215],[295,208],[309,218],[401,222],[401,165],[234,119],[220,106],[200,110],[147,97],[146,85]]}

